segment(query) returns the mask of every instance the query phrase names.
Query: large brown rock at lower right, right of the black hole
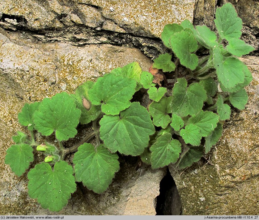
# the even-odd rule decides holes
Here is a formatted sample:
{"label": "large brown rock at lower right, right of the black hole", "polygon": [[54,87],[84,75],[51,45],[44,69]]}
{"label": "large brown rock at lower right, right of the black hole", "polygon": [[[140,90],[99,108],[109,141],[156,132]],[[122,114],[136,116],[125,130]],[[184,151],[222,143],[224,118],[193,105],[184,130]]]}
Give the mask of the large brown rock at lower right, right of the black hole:
{"label": "large brown rock at lower right, right of the black hole", "polygon": [[247,56],[242,61],[253,74],[253,81],[246,87],[248,104],[243,111],[232,111],[222,137],[206,156],[214,166],[200,161],[182,174],[169,167],[183,215],[258,214],[259,59]]}

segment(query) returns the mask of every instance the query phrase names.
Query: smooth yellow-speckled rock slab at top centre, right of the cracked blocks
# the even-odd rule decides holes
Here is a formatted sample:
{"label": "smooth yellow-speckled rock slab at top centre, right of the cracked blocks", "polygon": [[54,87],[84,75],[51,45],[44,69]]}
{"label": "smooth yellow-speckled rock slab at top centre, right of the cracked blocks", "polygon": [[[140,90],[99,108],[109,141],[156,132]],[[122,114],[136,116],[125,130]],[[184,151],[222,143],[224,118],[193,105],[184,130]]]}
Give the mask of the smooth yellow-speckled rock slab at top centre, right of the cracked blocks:
{"label": "smooth yellow-speckled rock slab at top centre, right of the cracked blocks", "polygon": [[74,0],[100,7],[105,18],[112,20],[128,33],[140,36],[160,37],[163,26],[193,20],[195,1],[106,1]]}

